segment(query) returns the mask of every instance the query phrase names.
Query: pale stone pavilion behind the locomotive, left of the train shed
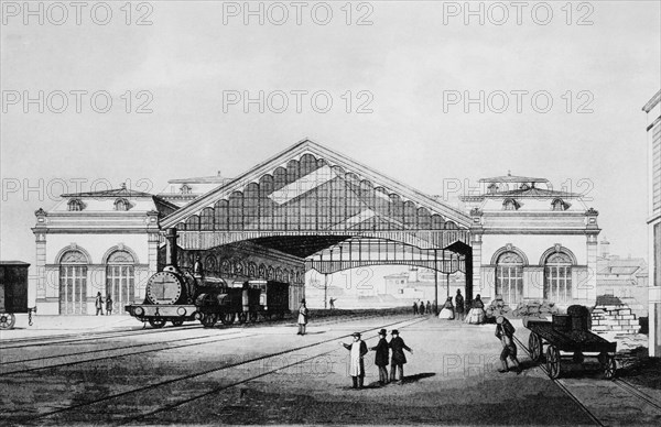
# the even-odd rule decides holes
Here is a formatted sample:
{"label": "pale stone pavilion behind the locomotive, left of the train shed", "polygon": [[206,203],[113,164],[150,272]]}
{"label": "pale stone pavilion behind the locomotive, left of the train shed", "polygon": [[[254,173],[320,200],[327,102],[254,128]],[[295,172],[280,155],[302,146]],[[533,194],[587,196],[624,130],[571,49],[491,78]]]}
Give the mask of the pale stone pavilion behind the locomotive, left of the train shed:
{"label": "pale stone pavilion behind the locomotive, left of the train shed", "polygon": [[[36,305],[44,315],[95,313],[110,295],[115,314],[144,295],[156,271],[159,220],[176,206],[151,194],[120,188],[64,194],[35,212]],[[105,311],[105,307],[104,307]]]}

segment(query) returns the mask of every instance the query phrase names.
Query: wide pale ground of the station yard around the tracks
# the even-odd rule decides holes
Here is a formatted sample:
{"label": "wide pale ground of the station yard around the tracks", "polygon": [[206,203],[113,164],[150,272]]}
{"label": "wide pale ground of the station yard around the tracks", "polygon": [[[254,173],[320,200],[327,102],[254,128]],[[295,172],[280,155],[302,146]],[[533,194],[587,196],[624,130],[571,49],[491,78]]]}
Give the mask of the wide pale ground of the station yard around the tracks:
{"label": "wide pale ground of the station yard around the tracks", "polygon": [[[0,350],[0,362],[30,357],[93,352],[85,358],[105,359],[24,373],[0,371],[0,395],[6,421],[72,424],[443,424],[443,425],[594,425],[595,420],[555,383],[521,354],[525,370],[498,373],[500,343],[494,326],[469,326],[427,318],[410,326],[410,317],[391,316],[310,326],[299,337],[291,324],[234,328],[165,328],[158,333],[104,339],[102,342],[46,344],[31,349]],[[420,318],[422,319],[422,318]],[[89,331],[124,331],[142,325],[127,317],[36,317],[0,332],[0,346],[13,339]],[[22,324],[24,321],[24,325]],[[378,386],[373,352],[366,360],[367,387],[350,388],[348,352],[354,330],[398,325],[413,348],[408,354],[405,380]],[[518,322],[517,335],[527,342]],[[22,329],[21,329],[22,328]],[[391,327],[388,327],[390,330]],[[147,329],[145,331],[150,331]],[[152,330],[153,331],[153,330]],[[375,346],[375,333],[365,336]],[[182,342],[198,340],[192,347]],[[177,344],[174,344],[177,341]],[[117,350],[142,346],[140,354]],[[283,352],[278,357],[269,357]],[[148,351],[159,350],[159,351]],[[127,351],[127,353],[121,353]],[[133,350],[131,350],[133,351]],[[122,355],[128,354],[128,355]],[[82,360],[77,357],[76,360]],[[260,359],[261,358],[261,359]],[[230,364],[257,359],[226,369]],[[87,359],[85,359],[87,360]],[[10,363],[3,369],[35,366],[37,362]],[[39,366],[51,363],[40,360]],[[275,372],[274,372],[275,371]],[[193,375],[207,372],[204,375]],[[132,390],[163,379],[185,381],[141,393]],[[626,401],[615,385],[598,374],[579,374],[565,381],[607,425],[660,425],[661,416],[636,401]],[[653,384],[652,384],[653,385]],[[646,388],[651,390],[653,386]],[[206,396],[199,397],[206,393]],[[620,393],[620,394],[618,394]],[[117,398],[105,402],[108,395]],[[85,405],[36,421],[40,413]],[[186,399],[191,402],[185,403]],[[624,405],[622,403],[626,403]],[[164,407],[164,404],[172,405]],[[151,415],[144,417],[144,414]],[[134,418],[133,418],[134,417]]]}

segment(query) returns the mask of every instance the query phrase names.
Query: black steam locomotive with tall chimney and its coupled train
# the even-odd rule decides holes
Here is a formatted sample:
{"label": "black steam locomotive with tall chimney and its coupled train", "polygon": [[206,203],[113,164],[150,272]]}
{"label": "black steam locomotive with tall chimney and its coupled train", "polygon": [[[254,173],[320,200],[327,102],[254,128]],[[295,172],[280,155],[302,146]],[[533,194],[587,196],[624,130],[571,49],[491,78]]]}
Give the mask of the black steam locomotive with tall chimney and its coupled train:
{"label": "black steam locomotive with tall chimney and its coupled train", "polygon": [[[171,238],[171,237],[169,237]],[[289,284],[275,281],[246,281],[228,283],[220,277],[204,277],[202,265],[193,272],[176,266],[176,237],[169,239],[167,260],[163,271],[147,282],[143,304],[124,307],[140,321],[162,328],[167,321],[181,326],[184,321],[199,320],[213,327],[257,321],[272,317],[281,319],[289,313]]]}

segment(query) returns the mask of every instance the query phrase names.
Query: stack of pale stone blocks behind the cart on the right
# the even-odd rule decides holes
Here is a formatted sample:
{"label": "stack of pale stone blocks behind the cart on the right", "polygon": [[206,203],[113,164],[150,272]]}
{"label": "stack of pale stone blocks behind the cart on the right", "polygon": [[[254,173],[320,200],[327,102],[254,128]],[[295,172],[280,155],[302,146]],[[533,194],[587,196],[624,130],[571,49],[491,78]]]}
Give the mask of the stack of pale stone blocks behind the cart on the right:
{"label": "stack of pale stone blocks behind the cart on the right", "polygon": [[595,332],[638,333],[640,325],[631,309],[611,295],[597,297],[592,313],[592,330]]}

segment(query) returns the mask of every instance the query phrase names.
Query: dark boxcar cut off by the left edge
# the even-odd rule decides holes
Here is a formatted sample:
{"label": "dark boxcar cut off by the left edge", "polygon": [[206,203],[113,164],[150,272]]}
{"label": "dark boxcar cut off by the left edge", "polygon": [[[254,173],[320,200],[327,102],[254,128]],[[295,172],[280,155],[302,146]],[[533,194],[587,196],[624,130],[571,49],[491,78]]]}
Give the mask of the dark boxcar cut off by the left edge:
{"label": "dark boxcar cut off by the left edge", "polygon": [[0,329],[12,329],[17,313],[28,313],[28,269],[22,261],[0,261]]}

